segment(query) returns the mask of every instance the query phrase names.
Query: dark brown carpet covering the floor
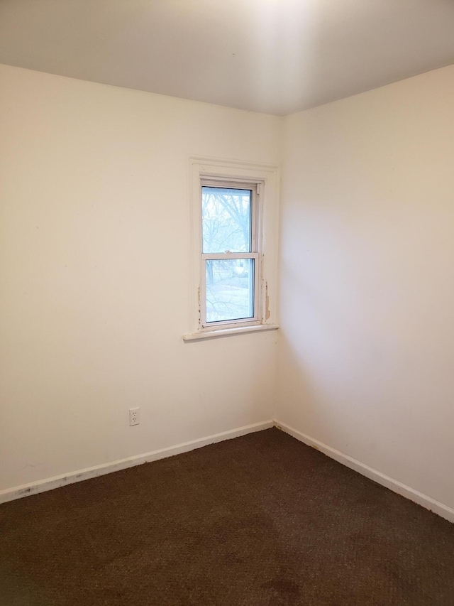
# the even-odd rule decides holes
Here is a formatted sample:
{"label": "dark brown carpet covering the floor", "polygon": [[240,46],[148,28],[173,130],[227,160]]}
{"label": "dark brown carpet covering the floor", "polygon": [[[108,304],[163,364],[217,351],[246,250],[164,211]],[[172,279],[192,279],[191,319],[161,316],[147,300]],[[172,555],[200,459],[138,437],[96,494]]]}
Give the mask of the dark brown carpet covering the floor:
{"label": "dark brown carpet covering the floor", "polygon": [[277,429],[0,507],[1,606],[453,606],[454,525]]}

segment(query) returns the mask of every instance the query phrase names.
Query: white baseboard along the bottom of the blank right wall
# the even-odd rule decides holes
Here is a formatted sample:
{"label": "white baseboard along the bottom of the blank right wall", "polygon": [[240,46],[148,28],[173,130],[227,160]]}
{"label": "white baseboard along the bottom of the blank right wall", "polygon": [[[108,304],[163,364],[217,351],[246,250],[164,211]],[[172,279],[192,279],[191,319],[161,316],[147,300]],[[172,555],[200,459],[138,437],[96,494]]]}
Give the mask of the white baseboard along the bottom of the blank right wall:
{"label": "white baseboard along the bottom of the blank right wall", "polygon": [[394,480],[388,475],[384,475],[384,473],[377,471],[372,467],[369,467],[369,465],[365,465],[364,463],[353,459],[352,457],[349,457],[344,453],[341,453],[339,450],[331,448],[331,446],[328,446],[326,444],[323,444],[323,442],[320,442],[319,440],[311,438],[305,433],[301,433],[301,431],[297,431],[286,423],[275,421],[275,426],[278,429],[284,431],[285,433],[289,433],[289,435],[292,435],[294,438],[297,438],[297,440],[299,440],[300,442],[304,442],[304,444],[307,444],[312,448],[320,450],[321,453],[342,463],[342,465],[350,467],[350,469],[353,469],[361,475],[368,477],[370,480],[374,480],[374,482],[377,482],[377,484],[387,487],[393,492],[397,492],[397,494],[401,494],[402,497],[406,497],[407,499],[410,499],[411,501],[422,505],[422,507],[425,507],[426,509],[430,509],[431,512],[438,514],[439,516],[447,519],[450,522],[454,522],[454,509],[451,509],[451,507],[448,507],[447,505],[444,505],[443,503],[440,503],[439,501],[428,497],[426,494],[423,494],[418,490],[415,490],[409,486],[406,486],[405,484],[402,484],[402,482]]}

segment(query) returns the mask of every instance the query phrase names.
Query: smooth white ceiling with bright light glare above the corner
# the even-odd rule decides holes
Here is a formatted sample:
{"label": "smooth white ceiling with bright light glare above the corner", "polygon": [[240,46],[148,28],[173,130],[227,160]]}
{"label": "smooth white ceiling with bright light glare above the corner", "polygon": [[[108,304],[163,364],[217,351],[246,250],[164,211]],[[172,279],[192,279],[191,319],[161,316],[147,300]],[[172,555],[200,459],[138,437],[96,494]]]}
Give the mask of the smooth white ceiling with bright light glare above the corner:
{"label": "smooth white ceiling with bright light glare above the corner", "polygon": [[454,0],[0,0],[0,63],[283,115],[454,63]]}

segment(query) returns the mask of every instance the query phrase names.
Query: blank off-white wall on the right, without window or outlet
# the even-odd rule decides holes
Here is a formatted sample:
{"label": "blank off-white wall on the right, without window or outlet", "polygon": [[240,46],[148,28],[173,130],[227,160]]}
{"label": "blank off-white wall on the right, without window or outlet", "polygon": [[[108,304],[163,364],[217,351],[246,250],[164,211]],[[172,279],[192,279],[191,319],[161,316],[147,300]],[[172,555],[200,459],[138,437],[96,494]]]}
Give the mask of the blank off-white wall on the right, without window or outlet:
{"label": "blank off-white wall on the right, without window or outlet", "polygon": [[454,507],[454,67],[284,131],[277,416]]}

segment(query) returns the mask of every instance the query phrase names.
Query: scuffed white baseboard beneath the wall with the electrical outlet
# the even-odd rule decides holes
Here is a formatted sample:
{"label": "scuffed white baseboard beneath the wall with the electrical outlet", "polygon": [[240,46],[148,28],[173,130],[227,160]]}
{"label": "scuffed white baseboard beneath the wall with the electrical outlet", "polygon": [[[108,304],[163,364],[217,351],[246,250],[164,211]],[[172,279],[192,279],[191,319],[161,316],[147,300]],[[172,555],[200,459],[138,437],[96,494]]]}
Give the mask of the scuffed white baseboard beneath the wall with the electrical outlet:
{"label": "scuffed white baseboard beneath the wall with the electrical outlet", "polygon": [[231,440],[232,438],[238,438],[240,435],[246,435],[247,433],[253,433],[255,431],[262,431],[263,429],[269,429],[273,426],[275,426],[275,422],[272,420],[262,421],[262,423],[253,423],[252,425],[231,429],[230,431],[214,433],[206,438],[199,438],[198,440],[184,442],[168,448],[160,448],[160,450],[152,450],[150,453],[119,459],[113,462],[105,463],[104,465],[94,465],[94,467],[87,467],[86,469],[77,470],[65,475],[57,475],[55,477],[46,478],[45,480],[38,480],[38,482],[31,482],[30,484],[24,484],[22,486],[7,488],[0,491],[0,503],[6,503],[15,499],[21,499],[22,497],[28,497],[31,494],[38,494],[39,492],[45,492],[46,490],[60,488],[62,486],[66,486],[67,484],[74,484],[74,482],[90,480],[92,477],[98,477],[100,475],[106,475],[115,471],[128,469],[128,467],[134,467],[135,465],[142,465],[143,463],[157,461],[159,459],[172,457],[173,455],[179,455],[181,453],[187,453],[189,450],[202,448],[203,446],[214,444],[216,442],[222,442],[223,440]]}

